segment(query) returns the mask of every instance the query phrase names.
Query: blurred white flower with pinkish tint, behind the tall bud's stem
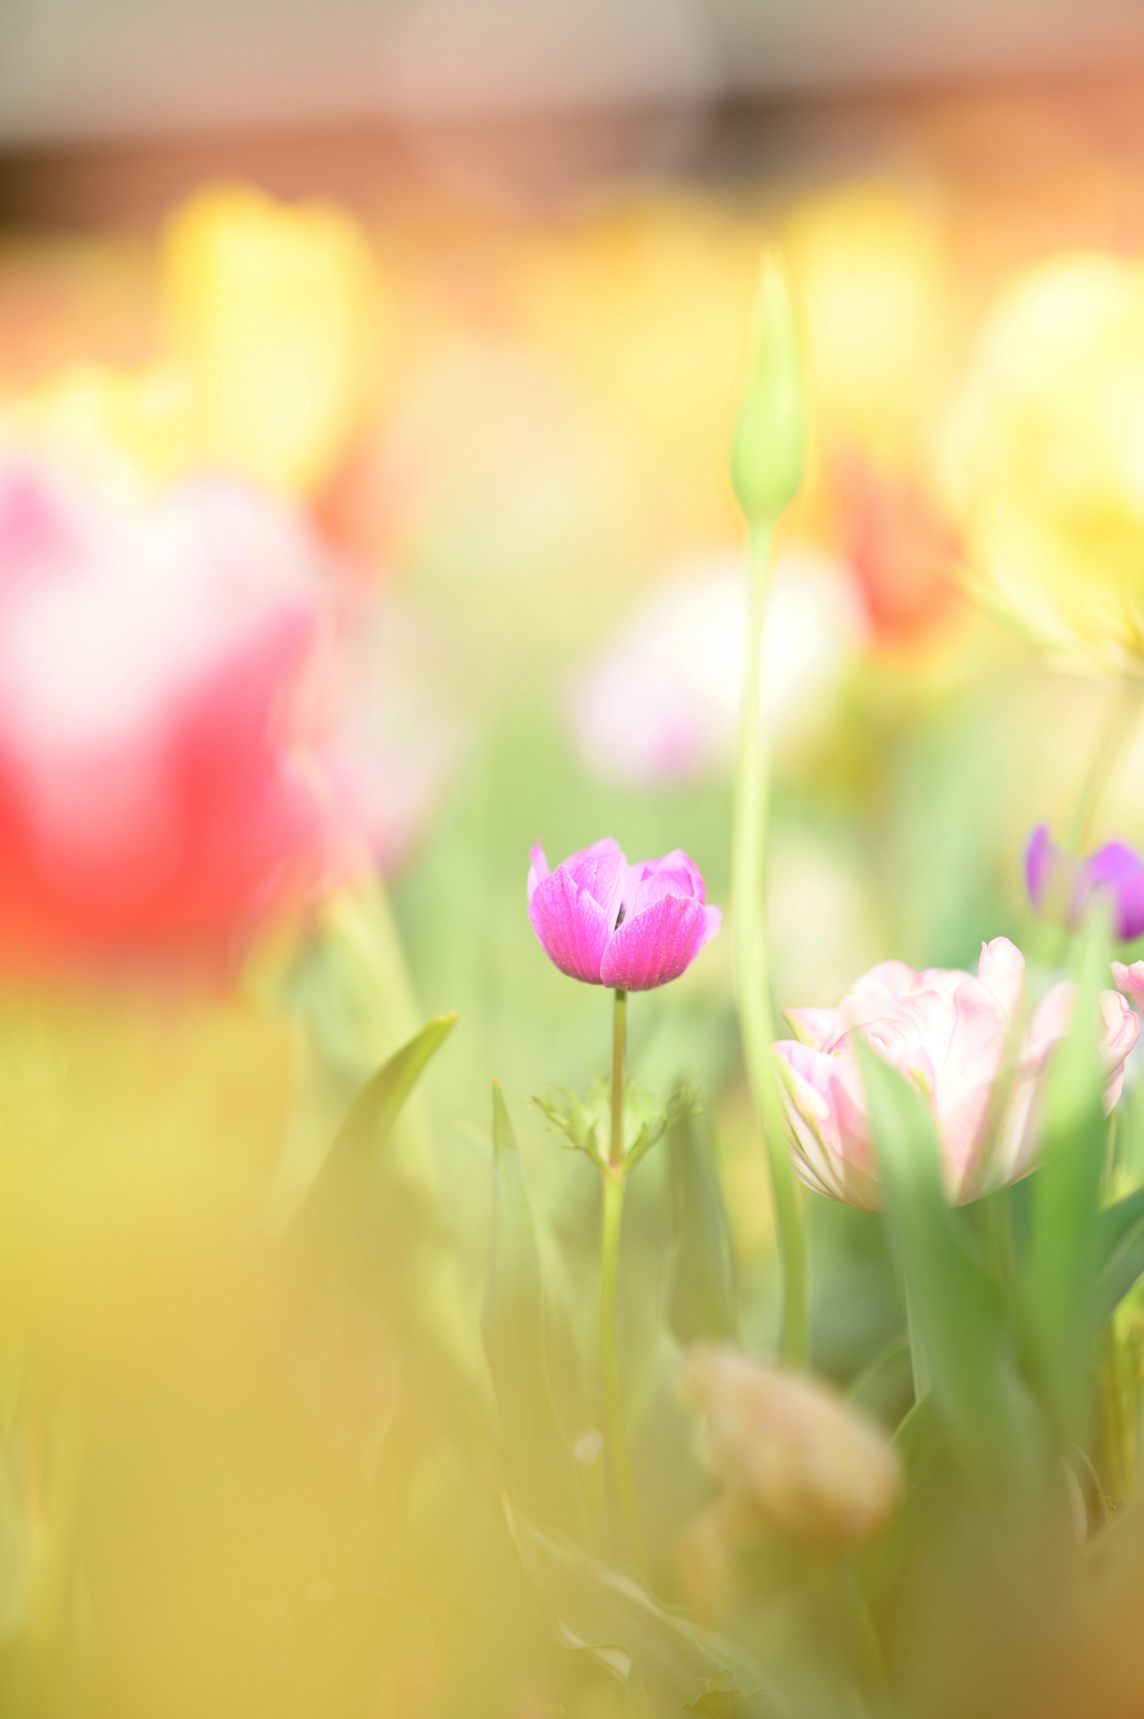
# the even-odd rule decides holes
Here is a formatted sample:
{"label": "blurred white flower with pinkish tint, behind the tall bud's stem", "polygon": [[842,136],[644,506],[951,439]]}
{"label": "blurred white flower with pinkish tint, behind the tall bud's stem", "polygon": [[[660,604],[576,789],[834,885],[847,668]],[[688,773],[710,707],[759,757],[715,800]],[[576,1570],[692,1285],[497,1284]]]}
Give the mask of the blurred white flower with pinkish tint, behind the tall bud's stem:
{"label": "blurred white flower with pinkish tint, behind the tall bud's stem", "polygon": [[[810,548],[783,548],[767,603],[762,674],[779,743],[821,724],[864,633],[846,569]],[[661,584],[573,686],[571,724],[585,762],[635,784],[728,768],[745,650],[740,555],[719,555]]]}

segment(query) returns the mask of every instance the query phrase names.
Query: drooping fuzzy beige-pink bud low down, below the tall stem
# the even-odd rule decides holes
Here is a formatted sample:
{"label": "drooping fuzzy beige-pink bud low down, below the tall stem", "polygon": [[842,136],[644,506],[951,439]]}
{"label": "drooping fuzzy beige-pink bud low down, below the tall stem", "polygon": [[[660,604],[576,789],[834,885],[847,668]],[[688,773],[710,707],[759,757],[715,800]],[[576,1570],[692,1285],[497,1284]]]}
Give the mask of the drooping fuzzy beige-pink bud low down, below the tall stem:
{"label": "drooping fuzzy beige-pink bud low down, below the tall stem", "polygon": [[690,1351],[683,1399],[704,1416],[707,1466],[738,1537],[778,1533],[817,1552],[869,1540],[901,1492],[881,1428],[821,1380],[731,1346]]}

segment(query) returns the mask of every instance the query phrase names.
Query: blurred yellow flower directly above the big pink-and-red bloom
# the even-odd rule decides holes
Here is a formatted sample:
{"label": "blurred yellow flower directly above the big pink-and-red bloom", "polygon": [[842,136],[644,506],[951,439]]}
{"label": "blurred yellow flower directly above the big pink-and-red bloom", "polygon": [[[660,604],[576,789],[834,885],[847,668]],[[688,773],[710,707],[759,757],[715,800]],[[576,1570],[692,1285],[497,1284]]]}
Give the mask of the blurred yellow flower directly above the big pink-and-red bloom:
{"label": "blurred yellow flower directly above the big pink-and-red bloom", "polygon": [[377,296],[360,223],[227,186],[170,218],[165,296],[213,466],[310,495],[368,404]]}

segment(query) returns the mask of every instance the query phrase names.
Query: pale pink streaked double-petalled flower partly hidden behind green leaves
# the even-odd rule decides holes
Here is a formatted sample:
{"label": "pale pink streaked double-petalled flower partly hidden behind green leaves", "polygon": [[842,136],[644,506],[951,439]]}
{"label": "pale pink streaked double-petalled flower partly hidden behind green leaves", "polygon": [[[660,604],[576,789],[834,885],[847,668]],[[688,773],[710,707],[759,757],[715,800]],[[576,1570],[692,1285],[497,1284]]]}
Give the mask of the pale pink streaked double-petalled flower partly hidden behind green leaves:
{"label": "pale pink streaked double-petalled flower partly hidden behind green leaves", "polygon": [[[1104,1107],[1123,1085],[1141,1023],[1115,990],[1101,1002]],[[979,1200],[1032,1169],[1041,1078],[1068,1031],[1075,987],[1055,985],[1027,1021],[1025,957],[1006,937],[982,944],[977,978],[872,968],[836,1009],[791,1009],[798,1042],[776,1043],[795,1171],[817,1193],[877,1210],[881,1186],[853,1035],[924,1092],[938,1123],[946,1193]],[[1008,1078],[1012,1076],[1012,1080]]]}

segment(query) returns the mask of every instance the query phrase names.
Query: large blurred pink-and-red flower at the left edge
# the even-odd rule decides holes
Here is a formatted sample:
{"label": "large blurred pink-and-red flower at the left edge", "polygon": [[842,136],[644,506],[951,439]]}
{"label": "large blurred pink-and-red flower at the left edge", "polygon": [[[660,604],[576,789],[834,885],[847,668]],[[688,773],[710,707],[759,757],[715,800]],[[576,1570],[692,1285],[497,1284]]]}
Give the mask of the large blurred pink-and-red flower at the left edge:
{"label": "large blurred pink-and-red flower at the left edge", "polygon": [[329,614],[239,485],[120,511],[0,468],[0,957],[217,947],[313,882]]}

